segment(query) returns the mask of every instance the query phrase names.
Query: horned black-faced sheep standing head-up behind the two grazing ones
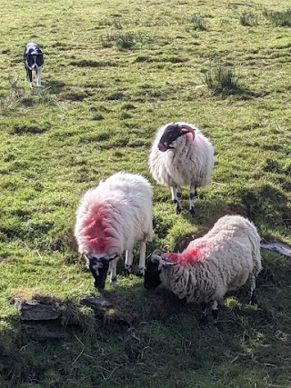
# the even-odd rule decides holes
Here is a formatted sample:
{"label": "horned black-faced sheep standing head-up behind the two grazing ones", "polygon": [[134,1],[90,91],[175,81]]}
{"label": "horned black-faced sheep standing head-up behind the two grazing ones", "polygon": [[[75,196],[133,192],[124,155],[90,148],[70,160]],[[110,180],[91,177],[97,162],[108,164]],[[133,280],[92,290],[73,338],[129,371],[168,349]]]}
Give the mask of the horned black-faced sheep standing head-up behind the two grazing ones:
{"label": "horned black-faced sheep standing head-up behind the two grazing ones", "polygon": [[181,187],[190,185],[189,212],[195,214],[196,188],[211,180],[214,148],[194,125],[179,122],[161,126],[149,154],[149,169],[157,184],[169,186],[176,214],[181,213]]}

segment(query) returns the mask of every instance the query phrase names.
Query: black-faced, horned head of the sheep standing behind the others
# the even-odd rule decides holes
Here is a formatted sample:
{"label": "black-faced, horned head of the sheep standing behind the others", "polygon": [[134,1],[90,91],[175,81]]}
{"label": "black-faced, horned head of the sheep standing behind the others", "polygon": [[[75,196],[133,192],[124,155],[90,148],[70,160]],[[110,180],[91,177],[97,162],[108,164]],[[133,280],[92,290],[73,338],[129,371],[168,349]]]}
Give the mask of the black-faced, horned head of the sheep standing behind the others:
{"label": "black-faced, horned head of the sheep standing behind the others", "polygon": [[157,145],[158,149],[165,153],[167,150],[175,148],[173,143],[176,139],[189,133],[193,134],[193,138],[195,137],[195,129],[189,124],[171,123],[166,125],[164,134],[162,134]]}

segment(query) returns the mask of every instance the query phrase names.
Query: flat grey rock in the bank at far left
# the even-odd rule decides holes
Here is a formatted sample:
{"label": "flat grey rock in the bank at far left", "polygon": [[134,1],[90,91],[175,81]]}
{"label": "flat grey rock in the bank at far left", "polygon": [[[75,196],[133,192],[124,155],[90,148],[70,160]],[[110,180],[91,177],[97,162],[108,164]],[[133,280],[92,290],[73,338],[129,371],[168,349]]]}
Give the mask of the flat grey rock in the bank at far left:
{"label": "flat grey rock in the bank at far left", "polygon": [[15,307],[19,310],[20,318],[24,321],[48,321],[61,316],[62,311],[57,304],[25,302],[15,299]]}

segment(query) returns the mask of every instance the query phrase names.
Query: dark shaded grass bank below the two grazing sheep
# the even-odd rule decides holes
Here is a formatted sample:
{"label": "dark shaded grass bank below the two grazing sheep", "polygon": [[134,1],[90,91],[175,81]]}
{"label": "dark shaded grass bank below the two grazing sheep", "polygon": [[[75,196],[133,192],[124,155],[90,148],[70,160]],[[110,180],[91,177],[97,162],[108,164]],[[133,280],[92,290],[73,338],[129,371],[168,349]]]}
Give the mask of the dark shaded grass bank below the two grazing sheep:
{"label": "dark shaded grass bank below the two grazing sheep", "polygon": [[[289,320],[285,312],[290,268],[286,271],[288,263],[281,262],[275,254],[270,254],[267,262],[276,274],[273,279],[261,278],[258,307],[247,304],[249,288],[240,290],[240,294],[233,293],[220,308],[219,328],[213,325],[210,313],[208,325],[199,325],[198,305],[186,304],[162,290],[147,292],[135,275],[121,274],[115,288],[106,284],[104,296],[113,303],[113,308],[103,315],[95,314],[91,333],[77,325],[25,323],[15,315],[8,317],[7,329],[0,333],[0,383],[5,382],[4,386],[10,388],[12,383],[46,383],[54,377],[65,384],[74,376],[76,382],[89,378],[85,385],[89,387],[96,380],[105,381],[105,374],[100,373],[103,371],[108,376],[115,373],[110,383],[118,386],[116,382],[122,377],[118,373],[124,368],[127,373],[133,373],[135,368],[142,368],[139,369],[142,372],[141,365],[145,365],[150,374],[154,370],[160,373],[164,363],[174,365],[177,359],[175,379],[179,371],[188,375],[189,368],[205,371],[207,365],[230,367],[235,363],[241,365],[242,373],[246,367],[259,368],[260,364],[266,368],[267,363],[287,368],[284,356],[288,352],[285,339]],[[286,293],[286,299],[279,298],[280,293]],[[70,298],[67,303],[75,304],[75,310],[79,308]],[[57,341],[39,340],[40,334],[47,331],[65,335]],[[282,354],[280,364],[274,358],[276,354]],[[116,369],[116,365],[123,368]],[[47,375],[47,369],[54,374]],[[167,373],[171,375],[170,371]]]}

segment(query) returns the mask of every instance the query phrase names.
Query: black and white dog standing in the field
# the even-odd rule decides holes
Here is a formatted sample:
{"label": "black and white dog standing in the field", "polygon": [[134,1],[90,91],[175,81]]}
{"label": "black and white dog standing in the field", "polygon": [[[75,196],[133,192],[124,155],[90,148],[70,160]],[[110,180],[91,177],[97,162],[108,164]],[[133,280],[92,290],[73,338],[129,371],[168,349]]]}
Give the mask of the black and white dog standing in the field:
{"label": "black and white dog standing in the field", "polygon": [[36,85],[41,86],[44,55],[39,45],[32,42],[25,45],[24,60],[30,87],[33,87],[33,71],[35,71],[36,75]]}

